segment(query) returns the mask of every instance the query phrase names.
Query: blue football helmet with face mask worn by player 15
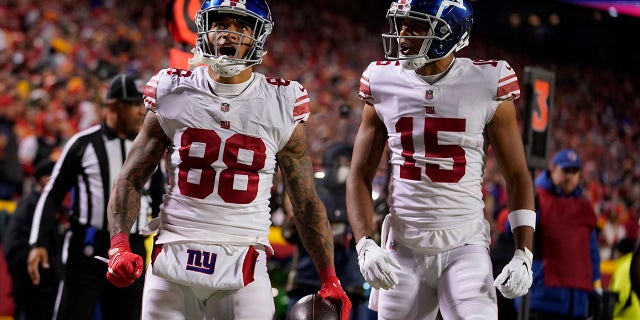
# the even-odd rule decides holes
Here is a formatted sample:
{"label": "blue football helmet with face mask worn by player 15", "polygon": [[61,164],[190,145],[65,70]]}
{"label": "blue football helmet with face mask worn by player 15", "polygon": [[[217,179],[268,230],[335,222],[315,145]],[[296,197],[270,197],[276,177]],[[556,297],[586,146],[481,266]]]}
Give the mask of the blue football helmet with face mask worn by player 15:
{"label": "blue football helmet with face mask worn by player 15", "polygon": [[[469,44],[473,12],[469,0],[395,0],[387,19],[390,30],[382,34],[385,58],[401,60],[405,68],[416,70]],[[427,33],[401,35],[405,19],[426,25]],[[404,39],[422,39],[420,50],[403,54],[400,42]]]}

